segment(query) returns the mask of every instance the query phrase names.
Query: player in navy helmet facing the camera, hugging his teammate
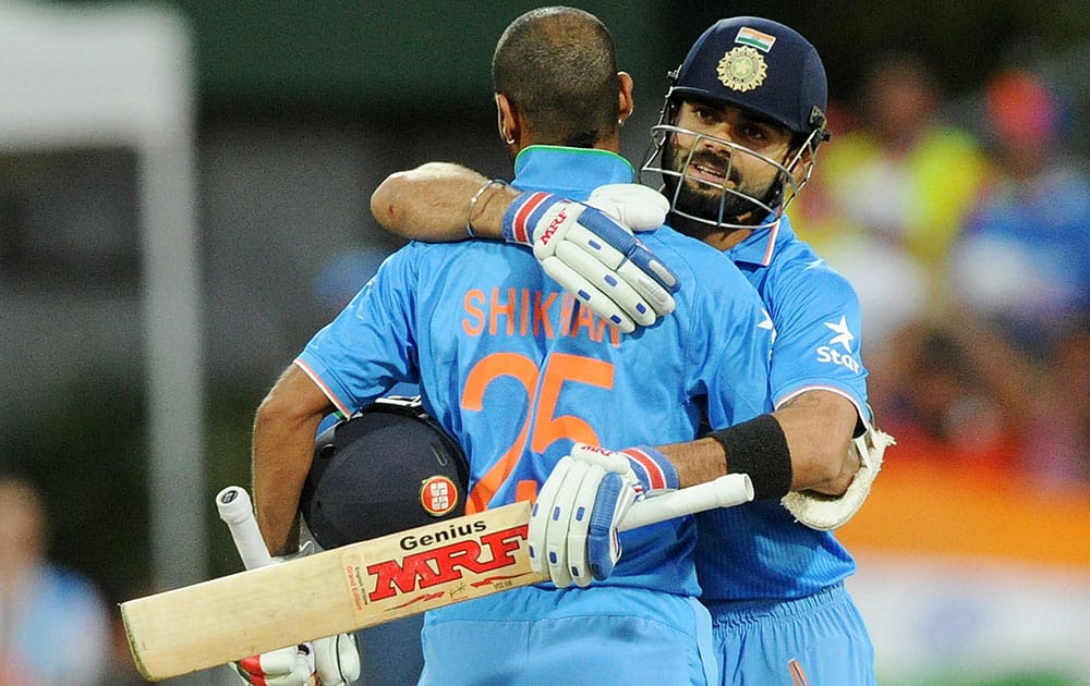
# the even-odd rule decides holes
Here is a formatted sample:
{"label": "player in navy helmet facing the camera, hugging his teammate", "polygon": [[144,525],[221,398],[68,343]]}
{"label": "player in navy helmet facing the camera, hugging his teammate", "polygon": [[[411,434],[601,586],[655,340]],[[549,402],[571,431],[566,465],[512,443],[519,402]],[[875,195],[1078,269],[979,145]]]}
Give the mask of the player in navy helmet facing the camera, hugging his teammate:
{"label": "player in navy helmet facing the camera, hugging his teammate", "polygon": [[[658,446],[681,486],[741,471],[758,492],[759,502],[698,515],[702,600],[715,622],[724,684],[874,683],[873,648],[843,586],[855,562],[831,530],[859,509],[892,439],[870,424],[858,297],[797,238],[784,213],[828,138],[826,97],[821,59],[797,32],[760,17],[722,20],[671,73],[643,166],[661,179],[669,224],[723,250],[776,327],[774,412],[738,426],[713,421],[717,430],[707,438]],[[452,223],[422,221],[428,211],[416,198],[433,209],[464,207],[481,179],[425,164],[389,177],[373,209],[402,235],[464,237]],[[476,233],[502,235],[500,217],[519,201],[516,191],[493,192]],[[615,243],[610,234],[597,237]],[[526,242],[545,254],[540,238]],[[625,327],[669,319],[658,319],[670,313],[662,295],[676,286],[668,274],[631,278],[629,265],[586,255],[554,245],[542,265]],[[700,287],[704,275],[682,280],[675,295]],[[543,493],[562,493],[548,487]]]}

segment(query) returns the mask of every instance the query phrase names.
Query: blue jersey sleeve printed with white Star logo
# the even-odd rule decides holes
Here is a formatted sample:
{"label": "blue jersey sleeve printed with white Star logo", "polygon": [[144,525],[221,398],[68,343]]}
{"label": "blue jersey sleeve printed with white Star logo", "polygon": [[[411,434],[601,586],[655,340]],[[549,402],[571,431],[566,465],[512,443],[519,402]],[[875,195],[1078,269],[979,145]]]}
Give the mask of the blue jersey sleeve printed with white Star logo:
{"label": "blue jersey sleeve printed with white Star logo", "polygon": [[855,289],[821,260],[777,277],[765,298],[776,321],[773,404],[779,407],[811,390],[831,391],[848,399],[868,424],[862,318]]}

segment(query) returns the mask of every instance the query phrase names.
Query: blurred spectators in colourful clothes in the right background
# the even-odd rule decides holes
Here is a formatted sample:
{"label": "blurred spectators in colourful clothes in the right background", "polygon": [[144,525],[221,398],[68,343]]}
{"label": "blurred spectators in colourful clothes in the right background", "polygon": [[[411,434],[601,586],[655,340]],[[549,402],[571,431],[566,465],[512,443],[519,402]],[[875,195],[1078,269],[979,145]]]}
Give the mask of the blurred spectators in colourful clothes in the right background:
{"label": "blurred spectators in colourful clothes in the right background", "polygon": [[856,286],[897,461],[1090,486],[1090,177],[1073,108],[993,74],[969,112],[916,56],[877,60],[831,115],[789,213]]}

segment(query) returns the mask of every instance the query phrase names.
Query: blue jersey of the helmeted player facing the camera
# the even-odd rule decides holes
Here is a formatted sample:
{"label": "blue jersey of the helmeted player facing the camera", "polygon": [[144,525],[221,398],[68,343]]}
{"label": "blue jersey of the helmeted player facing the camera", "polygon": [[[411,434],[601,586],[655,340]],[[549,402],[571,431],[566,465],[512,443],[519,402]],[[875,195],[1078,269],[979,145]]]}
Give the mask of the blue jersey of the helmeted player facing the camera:
{"label": "blue jersey of the helmeted player facing the camera", "polygon": [[[821,389],[844,395],[869,421],[859,298],[847,279],[796,236],[786,216],[726,255],[756,287],[776,326],[774,406]],[[833,534],[798,524],[777,501],[703,513],[698,523],[701,599],[713,614],[717,601],[811,596],[856,568]]]}

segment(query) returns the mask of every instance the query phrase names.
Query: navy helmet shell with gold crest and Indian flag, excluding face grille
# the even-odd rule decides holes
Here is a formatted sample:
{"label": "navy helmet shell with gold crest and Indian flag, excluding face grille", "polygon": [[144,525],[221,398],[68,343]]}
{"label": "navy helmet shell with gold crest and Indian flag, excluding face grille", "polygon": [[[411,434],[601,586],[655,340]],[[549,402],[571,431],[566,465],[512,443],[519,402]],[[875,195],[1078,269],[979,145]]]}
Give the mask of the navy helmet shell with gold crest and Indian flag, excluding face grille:
{"label": "navy helmet shell with gold crest and Indian flag, excluding face grille", "polygon": [[828,137],[828,82],[818,50],[772,20],[736,16],[710,26],[671,74],[669,96],[727,102],[797,134]]}

